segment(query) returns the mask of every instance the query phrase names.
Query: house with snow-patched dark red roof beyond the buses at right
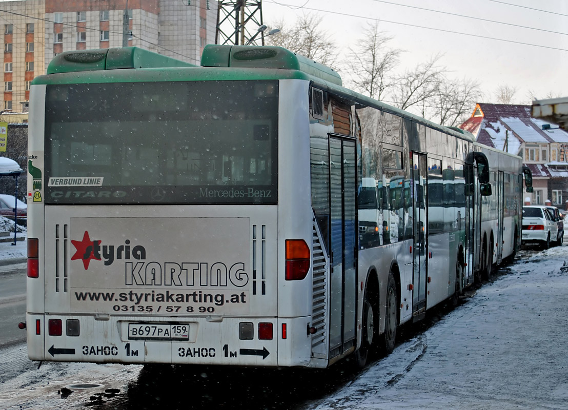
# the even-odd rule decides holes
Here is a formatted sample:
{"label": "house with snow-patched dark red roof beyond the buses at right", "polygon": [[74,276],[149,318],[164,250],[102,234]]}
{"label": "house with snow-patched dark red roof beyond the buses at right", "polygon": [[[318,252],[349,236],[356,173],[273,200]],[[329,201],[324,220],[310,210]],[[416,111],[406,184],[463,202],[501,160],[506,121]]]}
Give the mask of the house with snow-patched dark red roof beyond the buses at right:
{"label": "house with snow-patched dark red roof beyond the buses at right", "polygon": [[524,193],[532,204],[551,200],[566,209],[568,203],[568,132],[540,118],[532,107],[478,103],[471,117],[460,125],[488,147],[523,157],[533,175],[534,192]]}

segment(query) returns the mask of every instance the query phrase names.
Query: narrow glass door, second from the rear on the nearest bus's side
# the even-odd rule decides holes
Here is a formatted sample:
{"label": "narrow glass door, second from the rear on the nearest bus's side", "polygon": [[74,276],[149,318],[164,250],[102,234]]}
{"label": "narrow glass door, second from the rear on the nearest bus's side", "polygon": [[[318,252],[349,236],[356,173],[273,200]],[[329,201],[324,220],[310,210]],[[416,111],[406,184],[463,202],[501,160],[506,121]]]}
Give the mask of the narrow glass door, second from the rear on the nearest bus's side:
{"label": "narrow glass door, second from the rear on the nearest bus's side", "polygon": [[427,258],[426,252],[426,229],[427,207],[426,207],[426,187],[427,185],[427,161],[424,154],[412,154],[412,168],[414,179],[414,274],[412,277],[412,315],[418,316],[426,310],[427,292]]}

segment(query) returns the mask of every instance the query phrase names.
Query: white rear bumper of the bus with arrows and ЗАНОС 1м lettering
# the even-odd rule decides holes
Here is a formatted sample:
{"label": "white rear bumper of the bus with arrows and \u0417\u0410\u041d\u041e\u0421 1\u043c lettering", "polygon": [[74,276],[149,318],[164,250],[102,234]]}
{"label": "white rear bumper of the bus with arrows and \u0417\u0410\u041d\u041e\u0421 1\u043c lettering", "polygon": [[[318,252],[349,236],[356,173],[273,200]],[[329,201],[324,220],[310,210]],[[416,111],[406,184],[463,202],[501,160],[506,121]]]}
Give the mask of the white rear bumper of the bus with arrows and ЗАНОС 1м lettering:
{"label": "white rear bumper of the bus with arrows and \u0417\u0410\u041d\u041e\u0421 1\u043c lettering", "polygon": [[[60,336],[49,334],[50,319],[61,321]],[[307,333],[308,320],[308,317],[149,319],[28,314],[28,357],[64,362],[309,366],[311,339]],[[78,323],[77,335],[73,334],[73,330],[69,334],[69,323]],[[133,336],[132,328],[160,325],[164,329],[168,325],[179,324],[189,325],[186,340],[169,340],[167,336],[161,340]],[[239,329],[243,326],[249,332],[239,336]],[[247,340],[243,340],[243,336]]]}

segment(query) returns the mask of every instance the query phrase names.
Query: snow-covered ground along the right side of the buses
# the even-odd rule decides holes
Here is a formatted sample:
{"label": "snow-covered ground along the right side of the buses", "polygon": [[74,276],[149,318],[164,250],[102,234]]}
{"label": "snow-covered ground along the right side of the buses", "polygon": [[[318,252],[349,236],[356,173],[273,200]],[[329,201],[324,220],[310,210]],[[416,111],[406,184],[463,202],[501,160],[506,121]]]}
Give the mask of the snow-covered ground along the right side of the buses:
{"label": "snow-covered ground along the right side of the buses", "polygon": [[509,273],[309,408],[568,409],[568,247]]}

